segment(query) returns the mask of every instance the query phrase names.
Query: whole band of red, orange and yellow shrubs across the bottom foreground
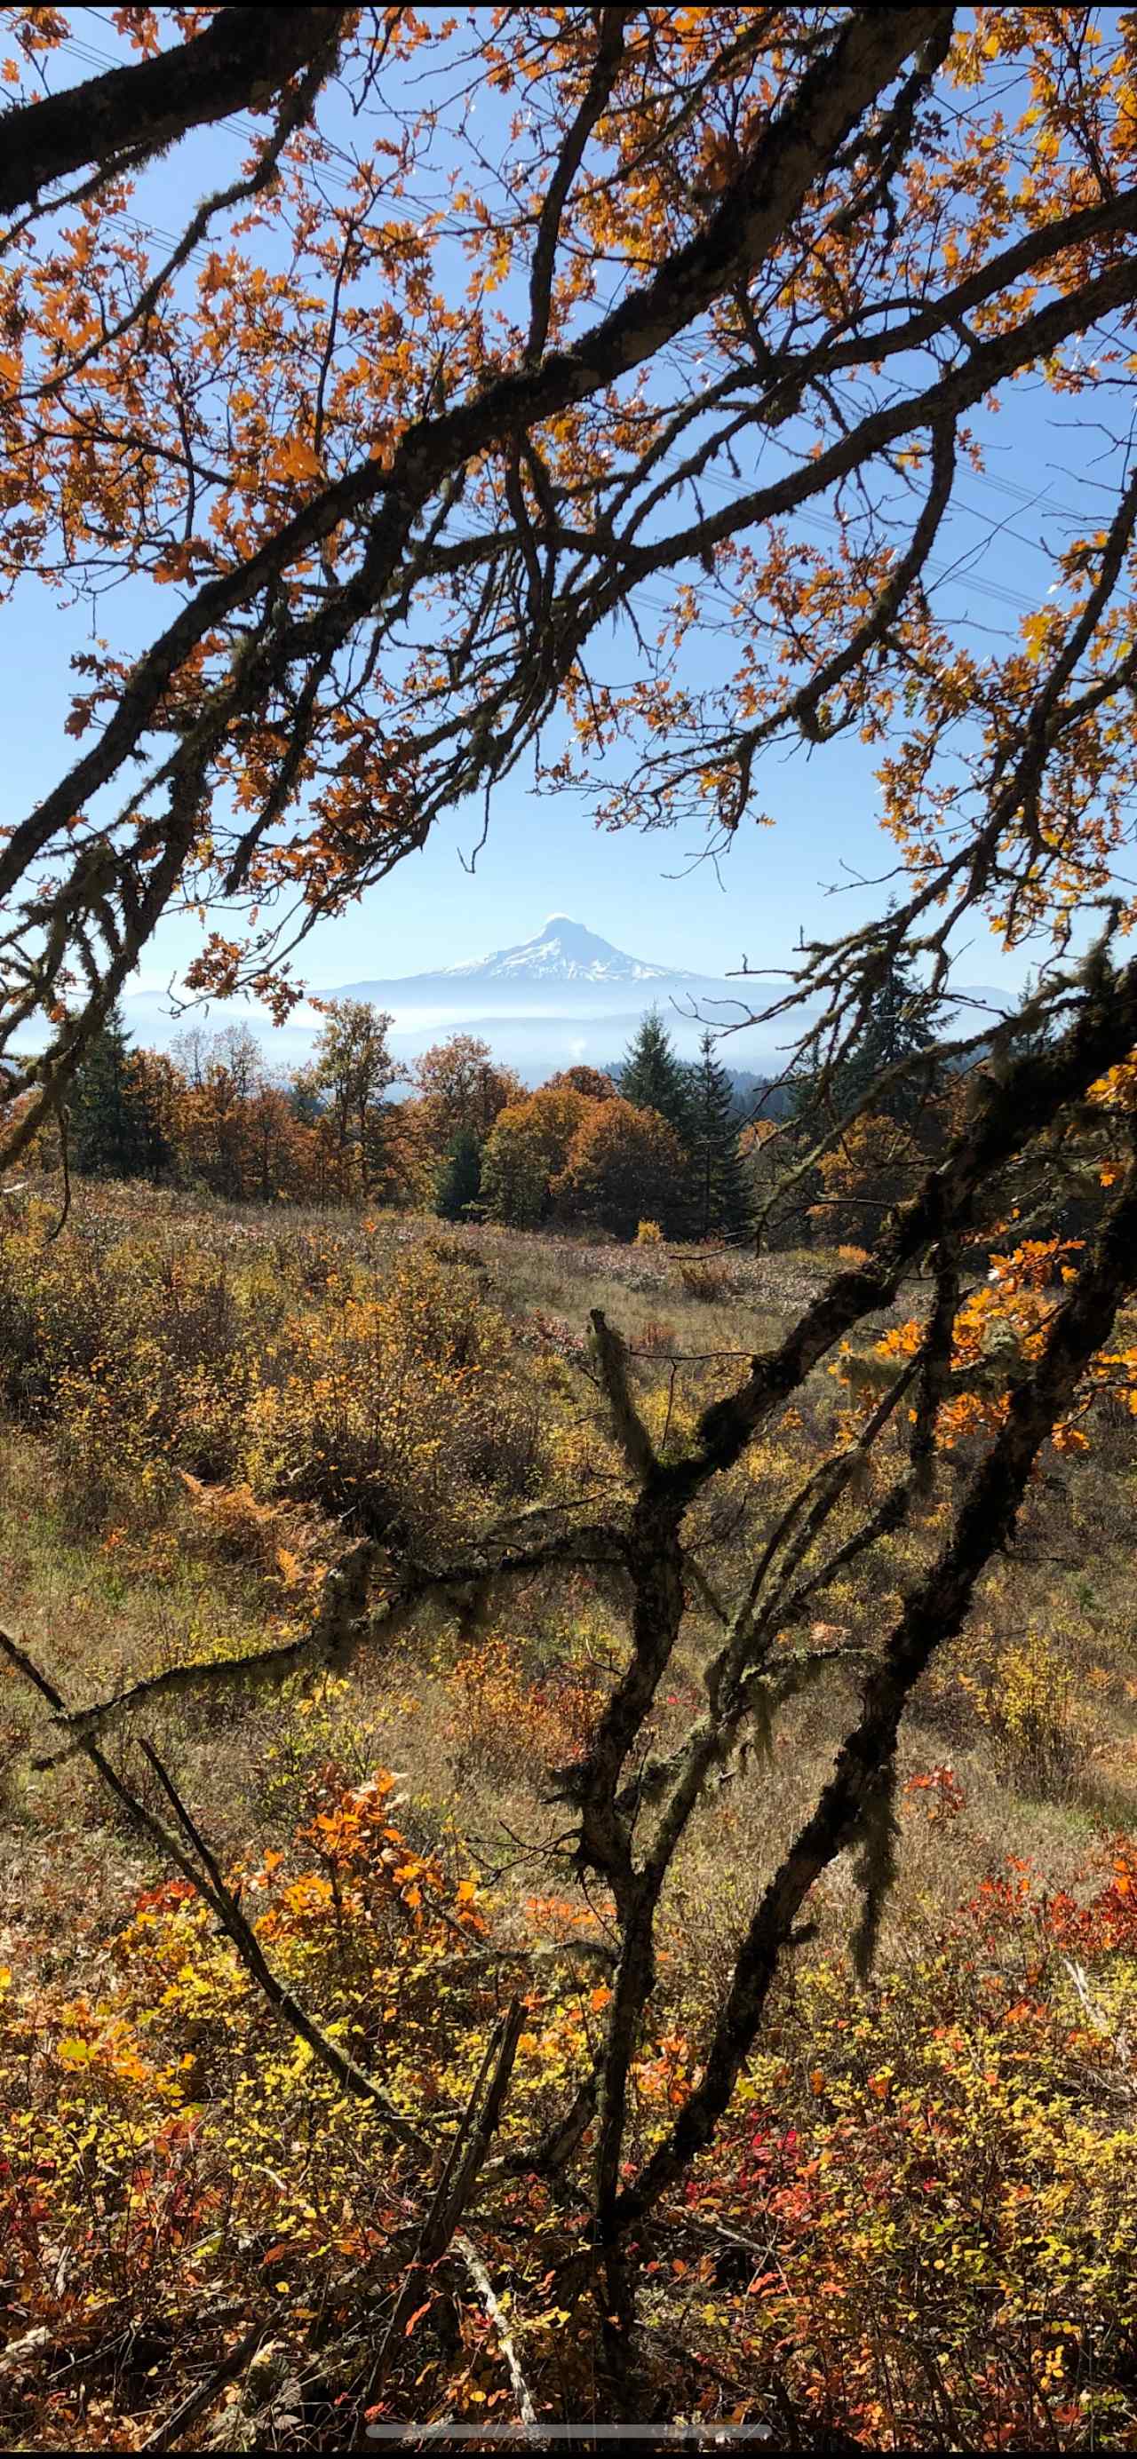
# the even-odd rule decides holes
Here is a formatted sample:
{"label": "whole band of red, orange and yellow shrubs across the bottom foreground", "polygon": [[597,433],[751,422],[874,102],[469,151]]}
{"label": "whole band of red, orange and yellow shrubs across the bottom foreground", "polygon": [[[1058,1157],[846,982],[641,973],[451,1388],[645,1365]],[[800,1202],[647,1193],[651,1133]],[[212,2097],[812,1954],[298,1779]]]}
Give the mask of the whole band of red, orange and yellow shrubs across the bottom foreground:
{"label": "whole band of red, orange and yellow shrubs across the bottom foreground", "polygon": [[[463,1675],[470,1697],[500,1679],[492,1652]],[[913,1798],[920,1817],[928,1800],[952,1815],[940,1773]],[[229,1874],[278,1977],[426,2139],[453,2127],[502,1970],[529,1967],[509,2157],[588,2066],[610,1997],[603,1923],[546,1891],[522,1896],[502,1935],[460,1849],[423,1849],[413,1827],[391,1773],[345,1783],[313,1766],[283,1844]],[[667,2004],[674,1945],[669,1933],[662,2019],[635,2063],[642,2147],[699,2073],[699,2041]],[[273,2026],[185,1879],[135,1896],[101,1989],[69,1994],[30,1950],[0,1989],[10,2439],[42,2432],[47,2400],[59,2447],[135,2447],[138,2420],[182,2393],[212,2311],[236,2299],[271,2309],[281,2356],[315,2383],[305,2432],[342,2447],[374,2368],[374,2339],[352,2343],[349,2321],[362,2289],[381,2309],[404,2275],[421,2154],[386,2134],[374,2157],[367,2107]],[[652,2324],[682,2334],[696,2304],[704,2363],[746,2383],[751,2412],[778,2398],[805,2447],[1132,2447],[1135,2019],[1125,1837],[1058,1893],[1024,1859],[994,1869],[955,1913],[928,1911],[866,1992],[844,1957],[802,1950],[721,2134],[650,2225]],[[549,2279],[576,2245],[573,2213],[524,2179],[509,2208],[509,2314],[541,2398],[588,2331]],[[325,2346],[347,2334],[332,2378],[310,2366],[313,2316]],[[426,2282],[418,2378],[445,2331],[445,2282]],[[81,2390],[118,2334],[135,2353]],[[477,2417],[500,2385],[500,2358],[470,2351],[453,2400]]]}

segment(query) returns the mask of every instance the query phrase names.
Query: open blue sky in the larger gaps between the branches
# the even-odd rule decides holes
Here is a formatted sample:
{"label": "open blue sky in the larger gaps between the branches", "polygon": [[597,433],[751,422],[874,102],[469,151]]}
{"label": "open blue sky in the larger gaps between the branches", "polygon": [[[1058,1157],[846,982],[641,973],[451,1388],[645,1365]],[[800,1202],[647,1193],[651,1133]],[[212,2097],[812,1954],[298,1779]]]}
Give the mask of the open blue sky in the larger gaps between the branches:
{"label": "open blue sky in the larger gaps between the branches", "polygon": [[[113,30],[103,12],[84,12],[84,42],[111,57]],[[74,57],[84,76],[96,61]],[[155,165],[138,211],[170,229],[185,219],[199,192],[234,160],[231,135],[197,138],[194,148]],[[1078,435],[1056,428],[1061,403],[1031,384],[1016,386],[1014,416],[989,428],[989,467],[967,477],[962,509],[952,514],[940,568],[957,566],[940,585],[938,605],[952,620],[979,627],[979,637],[1009,639],[1019,615],[1039,605],[1048,585],[1043,536],[1068,524],[1031,499],[1078,504]],[[165,612],[165,607],[162,607]],[[143,600],[121,590],[103,602],[98,630],[116,647],[143,622]],[[25,583],[2,612],[5,659],[0,666],[0,718],[5,723],[5,804],[15,819],[59,775],[66,740],[69,654],[86,647],[91,612],[59,607],[49,593]],[[620,637],[620,671],[632,654]],[[672,834],[600,834],[588,811],[568,799],[534,797],[524,772],[497,789],[490,834],[470,875],[463,868],[480,839],[482,814],[443,821],[423,853],[409,858],[359,907],[313,932],[300,957],[308,984],[322,989],[362,976],[399,976],[455,964],[524,939],[549,912],[566,912],[632,954],[706,974],[726,974],[743,957],[758,966],[783,966],[800,930],[829,937],[866,920],[888,902],[888,885],[852,888],[854,875],[881,875],[893,866],[891,839],[879,829],[874,757],[856,740],[790,755],[775,752],[760,775],[760,802],[775,814],[773,829],[746,826],[728,861],[714,868],[704,841],[687,826]],[[148,952],[140,989],[158,991],[199,944],[199,925],[172,917]],[[982,920],[960,954],[962,981],[1014,989],[1029,954],[1002,959]]]}

